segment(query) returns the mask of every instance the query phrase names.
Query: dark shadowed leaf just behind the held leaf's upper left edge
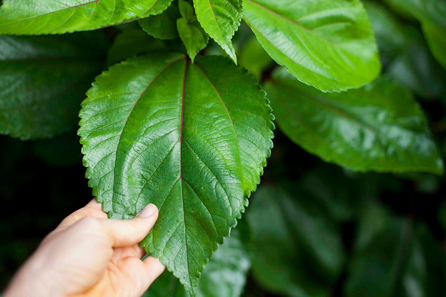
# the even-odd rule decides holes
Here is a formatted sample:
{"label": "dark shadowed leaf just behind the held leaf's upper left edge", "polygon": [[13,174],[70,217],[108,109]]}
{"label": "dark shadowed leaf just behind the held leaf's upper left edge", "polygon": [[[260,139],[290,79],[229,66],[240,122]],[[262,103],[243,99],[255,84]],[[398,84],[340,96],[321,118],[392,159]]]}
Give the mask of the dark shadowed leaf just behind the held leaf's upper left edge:
{"label": "dark shadowed leaf just behind the held leaf's upper left edge", "polygon": [[128,28],[122,30],[114,39],[109,49],[107,66],[111,66],[136,55],[147,54],[149,52],[163,52],[166,50],[168,48],[164,41],[147,35],[140,26],[135,23],[130,23]]}

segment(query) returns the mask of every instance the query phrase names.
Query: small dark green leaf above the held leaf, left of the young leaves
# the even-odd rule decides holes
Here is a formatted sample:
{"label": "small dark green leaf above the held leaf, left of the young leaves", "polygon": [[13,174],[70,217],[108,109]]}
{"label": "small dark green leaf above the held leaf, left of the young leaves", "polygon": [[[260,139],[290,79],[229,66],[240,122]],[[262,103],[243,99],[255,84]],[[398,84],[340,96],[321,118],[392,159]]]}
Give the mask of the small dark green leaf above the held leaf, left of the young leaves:
{"label": "small dark green leaf above the held leaf, left of the young leaves", "polygon": [[174,39],[178,37],[176,20],[179,17],[178,7],[171,4],[163,13],[140,19],[138,23],[144,31],[155,38]]}

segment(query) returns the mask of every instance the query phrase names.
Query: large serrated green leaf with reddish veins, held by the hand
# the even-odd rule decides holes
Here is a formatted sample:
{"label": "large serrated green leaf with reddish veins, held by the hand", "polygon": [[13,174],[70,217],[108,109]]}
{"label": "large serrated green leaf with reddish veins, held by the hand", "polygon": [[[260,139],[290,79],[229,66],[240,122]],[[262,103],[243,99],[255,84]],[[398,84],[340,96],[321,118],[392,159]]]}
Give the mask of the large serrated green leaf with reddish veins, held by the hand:
{"label": "large serrated green leaf with reddish veins, held by the hand", "polygon": [[98,76],[80,112],[86,176],[111,218],[160,209],[141,242],[194,295],[270,155],[264,92],[223,57],[127,60]]}

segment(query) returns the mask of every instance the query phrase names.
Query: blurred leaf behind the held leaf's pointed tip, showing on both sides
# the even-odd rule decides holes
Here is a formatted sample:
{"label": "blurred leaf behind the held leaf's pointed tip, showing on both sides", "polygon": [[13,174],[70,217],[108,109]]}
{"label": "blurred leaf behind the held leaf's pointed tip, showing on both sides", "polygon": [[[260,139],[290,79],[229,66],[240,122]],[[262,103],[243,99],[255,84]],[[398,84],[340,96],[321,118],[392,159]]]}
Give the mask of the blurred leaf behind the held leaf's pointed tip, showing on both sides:
{"label": "blurred leaf behind the held leaf's pointed tip, showing on both sides", "polygon": [[[224,239],[205,266],[197,286],[197,297],[240,297],[251,262],[240,240]],[[143,297],[186,297],[189,294],[168,271],[164,272]]]}

